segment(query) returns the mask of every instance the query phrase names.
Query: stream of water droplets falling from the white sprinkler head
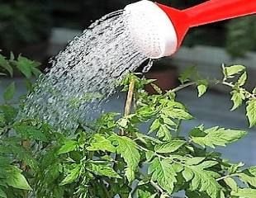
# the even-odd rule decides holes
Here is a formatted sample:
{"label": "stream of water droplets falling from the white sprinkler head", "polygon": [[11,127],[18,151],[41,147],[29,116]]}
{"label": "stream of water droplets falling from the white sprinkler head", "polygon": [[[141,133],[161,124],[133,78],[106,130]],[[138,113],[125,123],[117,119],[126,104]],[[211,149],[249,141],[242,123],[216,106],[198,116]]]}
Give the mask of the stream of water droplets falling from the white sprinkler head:
{"label": "stream of water droplets falling from the white sprinkler head", "polygon": [[[88,120],[115,92],[116,82],[147,59],[132,44],[125,23],[123,11],[112,12],[75,37],[51,60],[52,68],[27,97],[23,114],[63,129]],[[149,61],[145,70],[150,66]]]}

